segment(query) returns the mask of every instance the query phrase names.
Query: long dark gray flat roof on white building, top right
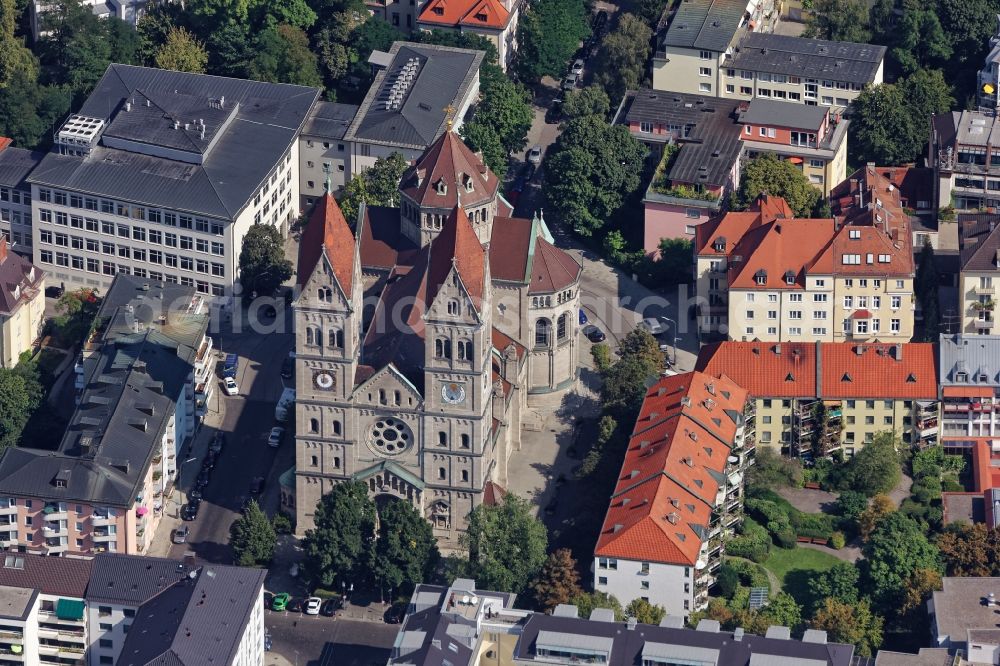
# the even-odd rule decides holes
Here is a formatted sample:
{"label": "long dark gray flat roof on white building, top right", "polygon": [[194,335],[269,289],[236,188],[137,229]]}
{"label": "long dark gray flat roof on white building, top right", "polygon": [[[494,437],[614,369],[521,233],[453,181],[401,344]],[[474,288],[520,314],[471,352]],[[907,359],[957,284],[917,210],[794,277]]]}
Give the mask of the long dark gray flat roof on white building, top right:
{"label": "long dark gray flat roof on white building, top right", "polygon": [[885,51],[873,44],[748,32],[725,66],[864,85],[875,79]]}

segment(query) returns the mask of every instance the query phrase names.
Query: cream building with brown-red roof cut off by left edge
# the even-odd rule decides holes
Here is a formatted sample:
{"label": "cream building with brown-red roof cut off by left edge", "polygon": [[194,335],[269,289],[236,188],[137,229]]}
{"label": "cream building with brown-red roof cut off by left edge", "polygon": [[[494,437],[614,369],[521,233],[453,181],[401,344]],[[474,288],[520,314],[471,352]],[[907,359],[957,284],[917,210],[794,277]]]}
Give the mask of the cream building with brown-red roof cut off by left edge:
{"label": "cream building with brown-red roof cut off by left edge", "polygon": [[45,273],[0,238],[0,365],[13,368],[42,334]]}

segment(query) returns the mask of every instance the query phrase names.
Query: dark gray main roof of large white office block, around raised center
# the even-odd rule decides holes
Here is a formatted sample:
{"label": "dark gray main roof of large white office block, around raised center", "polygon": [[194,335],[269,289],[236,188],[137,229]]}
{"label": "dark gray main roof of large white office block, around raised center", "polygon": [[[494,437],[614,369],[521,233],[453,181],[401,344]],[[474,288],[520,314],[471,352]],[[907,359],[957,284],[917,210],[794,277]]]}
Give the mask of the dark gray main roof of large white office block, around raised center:
{"label": "dark gray main roof of large white office block, around raised center", "polygon": [[[102,139],[86,157],[49,153],[28,182],[232,219],[296,139],[318,96],[318,88],[113,64],[78,114],[104,120],[110,141],[200,155],[202,163]],[[183,129],[198,120],[204,140]]]}

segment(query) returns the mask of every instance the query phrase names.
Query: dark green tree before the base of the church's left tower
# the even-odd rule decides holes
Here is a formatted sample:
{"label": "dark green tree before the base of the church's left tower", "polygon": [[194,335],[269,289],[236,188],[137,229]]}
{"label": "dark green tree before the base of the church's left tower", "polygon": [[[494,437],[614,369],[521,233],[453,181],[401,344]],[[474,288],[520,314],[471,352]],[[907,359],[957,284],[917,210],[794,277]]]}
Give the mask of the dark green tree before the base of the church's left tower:
{"label": "dark green tree before the base of the church's left tower", "polygon": [[315,527],[302,540],[305,573],[317,585],[365,580],[375,541],[375,503],[360,481],[338,483],[316,505]]}

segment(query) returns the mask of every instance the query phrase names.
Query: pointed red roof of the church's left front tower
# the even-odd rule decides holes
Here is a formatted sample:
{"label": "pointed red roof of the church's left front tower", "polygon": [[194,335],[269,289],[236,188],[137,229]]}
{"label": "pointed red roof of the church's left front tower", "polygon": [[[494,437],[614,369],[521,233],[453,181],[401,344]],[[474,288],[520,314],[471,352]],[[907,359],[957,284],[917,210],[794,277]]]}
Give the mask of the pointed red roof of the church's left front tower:
{"label": "pointed red roof of the church's left front tower", "polygon": [[347,225],[337,200],[326,192],[316,202],[302,232],[299,242],[298,283],[303,285],[309,280],[319,258],[325,252],[340,288],[350,298],[354,279],[354,246],[354,234]]}

